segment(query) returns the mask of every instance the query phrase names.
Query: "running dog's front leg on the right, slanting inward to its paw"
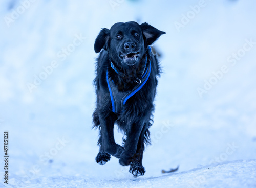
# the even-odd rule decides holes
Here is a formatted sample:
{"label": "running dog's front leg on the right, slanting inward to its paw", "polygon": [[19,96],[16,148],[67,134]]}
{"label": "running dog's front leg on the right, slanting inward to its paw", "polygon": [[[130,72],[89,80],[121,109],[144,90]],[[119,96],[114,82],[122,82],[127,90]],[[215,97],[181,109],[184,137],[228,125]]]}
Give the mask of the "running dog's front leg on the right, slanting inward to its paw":
{"label": "running dog's front leg on the right, slanting inward to its paw", "polygon": [[120,156],[119,163],[122,166],[130,165],[133,156],[137,150],[137,144],[141,130],[143,128],[143,122],[131,123],[129,129],[126,130],[126,141],[124,144],[124,152]]}

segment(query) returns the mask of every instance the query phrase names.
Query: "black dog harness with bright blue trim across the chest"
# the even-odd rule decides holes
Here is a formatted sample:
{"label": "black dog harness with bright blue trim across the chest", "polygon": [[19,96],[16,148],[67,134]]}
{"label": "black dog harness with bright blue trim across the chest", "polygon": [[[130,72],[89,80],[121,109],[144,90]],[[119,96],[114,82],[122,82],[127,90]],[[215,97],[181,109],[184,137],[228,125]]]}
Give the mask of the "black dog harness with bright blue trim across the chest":
{"label": "black dog harness with bright blue trim across the chest", "polygon": [[[149,53],[151,51],[150,46],[148,46]],[[142,80],[139,80],[138,83],[131,91],[119,91],[117,86],[114,84],[113,80],[111,78],[108,78],[108,70],[106,70],[106,81],[108,83],[109,92],[110,92],[110,98],[111,98],[111,104],[112,104],[112,111],[114,113],[120,113],[123,106],[125,105],[126,101],[135,95],[147,82],[148,78],[150,77],[151,73],[151,61],[148,63],[148,67],[146,69],[146,72],[142,76]],[[146,65],[147,65],[147,58],[146,58]],[[145,65],[145,67],[146,67]],[[117,72],[117,69],[114,67],[113,63],[111,63],[111,67]],[[117,72],[118,73],[118,72]]]}

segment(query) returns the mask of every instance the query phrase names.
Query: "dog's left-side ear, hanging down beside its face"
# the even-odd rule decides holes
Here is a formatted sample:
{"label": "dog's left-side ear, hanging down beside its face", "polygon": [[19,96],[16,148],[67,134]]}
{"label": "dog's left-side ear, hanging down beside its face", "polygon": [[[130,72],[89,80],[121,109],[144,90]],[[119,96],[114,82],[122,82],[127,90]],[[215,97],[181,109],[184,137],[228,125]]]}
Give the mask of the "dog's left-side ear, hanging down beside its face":
{"label": "dog's left-side ear, hanging down beside its face", "polygon": [[102,28],[94,43],[94,51],[99,53],[101,49],[108,50],[110,42],[110,30]]}

